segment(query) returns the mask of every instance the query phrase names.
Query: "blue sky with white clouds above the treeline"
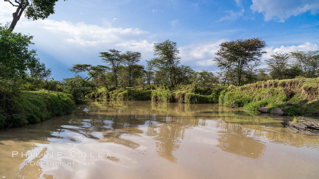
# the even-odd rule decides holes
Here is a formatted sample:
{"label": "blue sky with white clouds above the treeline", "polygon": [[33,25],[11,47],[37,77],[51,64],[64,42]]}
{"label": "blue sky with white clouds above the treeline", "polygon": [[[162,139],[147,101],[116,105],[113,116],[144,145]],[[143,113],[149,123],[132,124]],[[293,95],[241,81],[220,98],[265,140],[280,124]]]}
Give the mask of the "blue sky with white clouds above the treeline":
{"label": "blue sky with white clouds above the treeline", "polygon": [[[14,8],[0,1],[0,23]],[[183,65],[217,71],[211,61],[224,41],[260,37],[268,52],[319,50],[319,0],[68,0],[45,20],[21,18],[14,31],[34,36],[34,49],[52,77],[72,77],[72,64],[98,65],[108,49],[142,52],[153,58],[153,43],[177,42]],[[264,67],[264,64],[261,65]]]}

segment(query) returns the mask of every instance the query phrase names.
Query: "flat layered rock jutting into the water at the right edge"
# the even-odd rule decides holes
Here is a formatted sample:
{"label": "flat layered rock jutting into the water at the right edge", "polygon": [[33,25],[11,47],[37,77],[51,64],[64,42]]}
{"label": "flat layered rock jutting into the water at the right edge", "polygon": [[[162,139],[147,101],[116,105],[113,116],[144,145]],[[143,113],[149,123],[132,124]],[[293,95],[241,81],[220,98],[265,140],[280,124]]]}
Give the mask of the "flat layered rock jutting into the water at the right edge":
{"label": "flat layered rock jutting into the water at the right edge", "polygon": [[319,122],[308,121],[308,120],[298,120],[297,123],[286,119],[282,124],[290,129],[299,130],[302,132],[319,134]]}

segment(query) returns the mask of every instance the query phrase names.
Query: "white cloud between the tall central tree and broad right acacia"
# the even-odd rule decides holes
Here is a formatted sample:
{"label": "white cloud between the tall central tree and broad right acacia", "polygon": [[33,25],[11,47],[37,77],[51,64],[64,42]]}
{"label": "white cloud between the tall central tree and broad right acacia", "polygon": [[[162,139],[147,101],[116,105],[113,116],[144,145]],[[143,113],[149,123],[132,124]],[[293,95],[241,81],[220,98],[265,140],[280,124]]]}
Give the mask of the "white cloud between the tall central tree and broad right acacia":
{"label": "white cloud between the tall central tree and broad right acacia", "polygon": [[192,44],[178,48],[182,57],[182,64],[190,66],[207,67],[213,66],[212,59],[216,57],[215,53],[219,50],[219,44],[227,41],[220,39],[216,42],[206,42],[201,44]]}

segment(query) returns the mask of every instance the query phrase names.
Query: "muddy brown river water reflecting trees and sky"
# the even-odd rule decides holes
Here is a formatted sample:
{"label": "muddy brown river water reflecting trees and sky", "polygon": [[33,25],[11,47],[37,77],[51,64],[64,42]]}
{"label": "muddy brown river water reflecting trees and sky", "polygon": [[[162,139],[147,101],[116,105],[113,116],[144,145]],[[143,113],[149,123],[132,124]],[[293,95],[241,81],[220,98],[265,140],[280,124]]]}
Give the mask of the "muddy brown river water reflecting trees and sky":
{"label": "muddy brown river water reflecting trees and sky", "polygon": [[0,178],[317,178],[319,136],[216,104],[93,101],[0,131]]}

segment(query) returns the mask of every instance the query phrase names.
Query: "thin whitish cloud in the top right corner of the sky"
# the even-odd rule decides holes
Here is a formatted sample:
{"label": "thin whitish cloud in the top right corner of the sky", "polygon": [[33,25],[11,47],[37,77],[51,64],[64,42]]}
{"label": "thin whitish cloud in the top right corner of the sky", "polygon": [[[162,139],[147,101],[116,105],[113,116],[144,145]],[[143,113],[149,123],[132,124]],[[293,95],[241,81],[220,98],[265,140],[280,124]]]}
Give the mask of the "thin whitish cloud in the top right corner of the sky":
{"label": "thin whitish cloud in the top right corner of the sky", "polygon": [[291,16],[298,16],[307,11],[317,14],[319,9],[318,0],[252,0],[250,9],[258,13],[263,13],[264,20],[276,20],[285,22]]}

